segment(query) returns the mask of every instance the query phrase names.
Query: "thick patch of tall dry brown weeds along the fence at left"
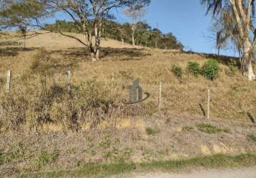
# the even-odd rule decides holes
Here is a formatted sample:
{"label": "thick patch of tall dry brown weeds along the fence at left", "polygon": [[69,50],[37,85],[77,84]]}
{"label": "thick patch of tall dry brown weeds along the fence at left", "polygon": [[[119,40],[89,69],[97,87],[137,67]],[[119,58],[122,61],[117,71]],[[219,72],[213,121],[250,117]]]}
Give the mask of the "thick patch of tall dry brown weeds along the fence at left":
{"label": "thick patch of tall dry brown weeds along the fence at left", "polygon": [[27,85],[19,92],[1,92],[1,127],[15,130],[26,123],[37,129],[54,123],[62,125],[64,130],[79,130],[84,123],[95,126],[101,120],[118,117],[124,110],[118,95],[95,80],[72,86],[72,90],[56,83],[46,88],[37,84]]}

